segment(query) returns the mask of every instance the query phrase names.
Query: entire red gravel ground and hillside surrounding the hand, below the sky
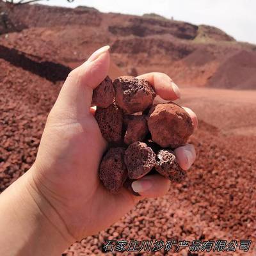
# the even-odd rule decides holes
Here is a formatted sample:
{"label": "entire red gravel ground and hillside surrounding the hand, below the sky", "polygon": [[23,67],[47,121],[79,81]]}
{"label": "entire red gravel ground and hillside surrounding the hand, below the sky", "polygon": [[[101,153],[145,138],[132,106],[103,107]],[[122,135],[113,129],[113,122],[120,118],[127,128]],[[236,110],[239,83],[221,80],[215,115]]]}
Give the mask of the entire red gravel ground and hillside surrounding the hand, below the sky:
{"label": "entire red gravel ground and hillside surrounding the hand, below the sky", "polygon": [[173,184],[163,198],[142,200],[118,223],[63,255],[101,255],[105,239],[252,239],[247,253],[181,250],[172,255],[255,255],[256,92],[202,88],[255,88],[255,46],[234,42],[215,28],[152,17],[40,6],[20,9],[15,16],[25,17],[27,28],[0,36],[0,192],[35,161],[61,80],[102,44],[112,46],[111,78],[159,70],[177,84],[201,86],[182,87],[179,100],[200,119],[191,138],[197,159],[188,179]]}

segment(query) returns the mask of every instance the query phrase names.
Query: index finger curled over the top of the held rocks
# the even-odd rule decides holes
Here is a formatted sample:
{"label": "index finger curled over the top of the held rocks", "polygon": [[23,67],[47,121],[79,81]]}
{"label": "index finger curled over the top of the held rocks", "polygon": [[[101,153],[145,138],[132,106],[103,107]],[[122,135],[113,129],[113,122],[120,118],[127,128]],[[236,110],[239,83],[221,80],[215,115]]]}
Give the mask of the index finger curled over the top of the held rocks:
{"label": "index finger curled over the top of the held rocks", "polygon": [[177,100],[180,98],[180,90],[177,84],[164,73],[152,72],[138,76],[137,78],[146,79],[162,99]]}

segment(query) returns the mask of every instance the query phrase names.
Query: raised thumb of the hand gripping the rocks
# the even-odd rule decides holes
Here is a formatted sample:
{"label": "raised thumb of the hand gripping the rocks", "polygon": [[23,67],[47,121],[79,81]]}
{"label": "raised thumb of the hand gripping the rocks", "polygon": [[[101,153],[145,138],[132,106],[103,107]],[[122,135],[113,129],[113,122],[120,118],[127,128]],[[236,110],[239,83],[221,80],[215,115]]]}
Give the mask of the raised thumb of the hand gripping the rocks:
{"label": "raised thumb of the hand gripping the rocks", "polygon": [[90,113],[93,89],[108,75],[109,46],[93,52],[81,66],[68,74],[52,112],[56,117],[83,118]]}

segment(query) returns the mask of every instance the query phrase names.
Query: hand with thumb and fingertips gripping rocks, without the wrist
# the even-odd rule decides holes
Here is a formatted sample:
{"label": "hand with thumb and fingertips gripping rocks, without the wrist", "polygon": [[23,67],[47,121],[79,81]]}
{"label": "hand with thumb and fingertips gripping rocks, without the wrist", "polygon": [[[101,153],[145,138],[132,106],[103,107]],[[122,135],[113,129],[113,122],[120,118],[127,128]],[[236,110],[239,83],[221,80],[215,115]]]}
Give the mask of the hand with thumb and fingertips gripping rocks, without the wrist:
{"label": "hand with thumb and fingertips gripping rocks, without the wrist", "polygon": [[[76,240],[109,227],[141,198],[164,195],[170,184],[160,175],[147,175],[147,179],[132,184],[134,191],[141,195],[138,197],[125,188],[113,195],[99,180],[99,163],[107,143],[93,116],[91,103],[93,89],[108,74],[108,49],[102,47],[94,52],[67,77],[49,113],[36,161],[28,173],[29,184],[38,198],[42,196],[49,202]],[[148,79],[161,98],[179,98],[179,88],[165,74],[140,77]],[[186,111],[196,127],[195,113],[187,108]],[[195,161],[193,145],[177,148],[175,154],[184,170]]]}

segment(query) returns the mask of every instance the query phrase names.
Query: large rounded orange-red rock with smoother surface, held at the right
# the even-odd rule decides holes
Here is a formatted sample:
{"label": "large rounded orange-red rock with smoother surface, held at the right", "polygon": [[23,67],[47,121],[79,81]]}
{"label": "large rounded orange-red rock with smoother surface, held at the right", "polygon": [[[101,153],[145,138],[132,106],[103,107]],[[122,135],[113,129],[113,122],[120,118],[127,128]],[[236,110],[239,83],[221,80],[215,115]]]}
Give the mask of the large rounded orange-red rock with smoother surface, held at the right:
{"label": "large rounded orange-red rock with smoother surface, held at the right", "polygon": [[154,105],[147,121],[152,140],[164,148],[184,145],[193,133],[190,116],[173,102]]}

